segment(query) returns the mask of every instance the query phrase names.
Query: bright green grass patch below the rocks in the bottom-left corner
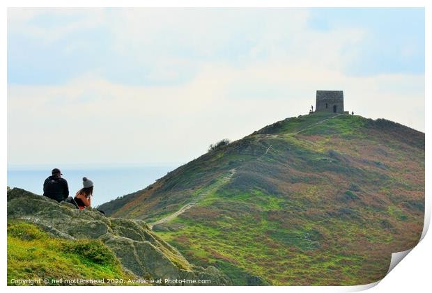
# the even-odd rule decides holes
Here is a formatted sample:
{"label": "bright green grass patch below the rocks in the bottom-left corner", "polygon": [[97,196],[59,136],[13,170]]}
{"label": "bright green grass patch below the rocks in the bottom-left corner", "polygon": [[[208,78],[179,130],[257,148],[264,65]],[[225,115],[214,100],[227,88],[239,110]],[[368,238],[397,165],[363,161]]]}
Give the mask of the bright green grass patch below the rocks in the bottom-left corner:
{"label": "bright green grass patch below the rocks in the bottom-left corner", "polygon": [[[134,278],[121,268],[114,253],[96,240],[67,240],[50,237],[36,225],[8,222],[8,285],[12,280]],[[45,285],[41,283],[40,285]]]}

